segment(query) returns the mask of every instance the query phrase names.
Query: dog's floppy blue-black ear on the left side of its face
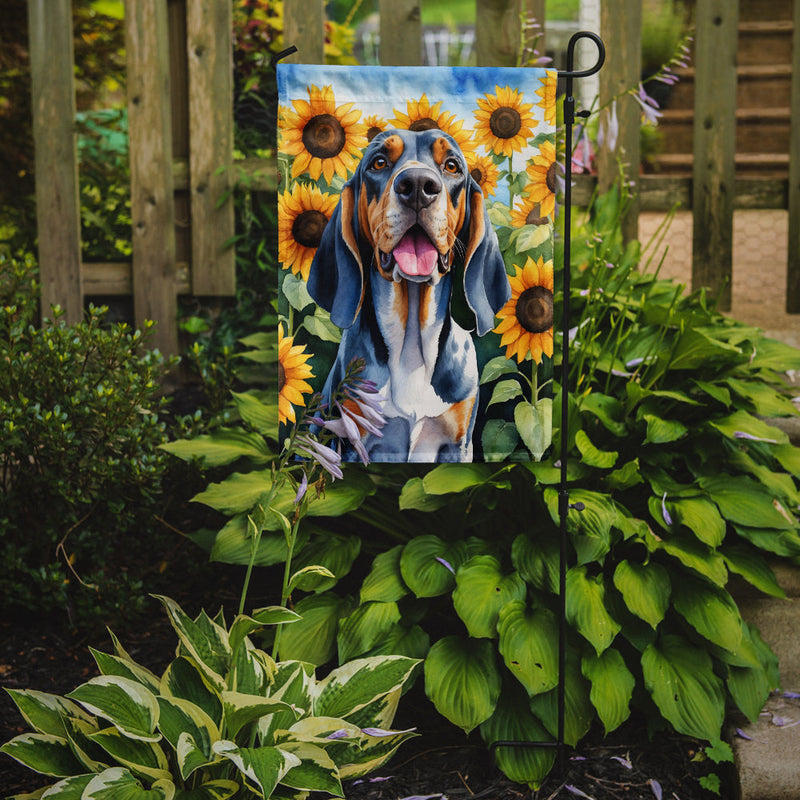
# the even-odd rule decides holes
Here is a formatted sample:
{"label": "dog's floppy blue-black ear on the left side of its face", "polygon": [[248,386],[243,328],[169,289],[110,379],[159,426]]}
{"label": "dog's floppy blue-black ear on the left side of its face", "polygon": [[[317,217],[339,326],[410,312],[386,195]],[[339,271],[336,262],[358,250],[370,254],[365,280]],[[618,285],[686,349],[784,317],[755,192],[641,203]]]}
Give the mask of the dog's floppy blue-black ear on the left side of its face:
{"label": "dog's floppy blue-black ear on the left side of its face", "polygon": [[364,266],[354,227],[357,199],[351,180],[325,226],[308,275],[308,293],[330,311],[331,322],[339,328],[355,322],[364,298]]}

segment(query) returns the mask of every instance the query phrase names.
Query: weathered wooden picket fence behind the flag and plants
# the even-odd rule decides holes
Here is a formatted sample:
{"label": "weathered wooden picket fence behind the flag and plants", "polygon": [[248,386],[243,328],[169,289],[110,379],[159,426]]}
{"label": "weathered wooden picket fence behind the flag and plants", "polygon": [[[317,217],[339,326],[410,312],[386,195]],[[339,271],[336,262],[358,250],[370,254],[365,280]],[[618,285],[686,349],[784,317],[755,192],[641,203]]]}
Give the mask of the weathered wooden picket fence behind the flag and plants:
{"label": "weathered wooden picket fence behind the flag and plants", "polygon": [[[157,321],[156,346],[175,353],[177,296],[234,293],[228,242],[236,176],[246,176],[250,188],[275,190],[277,169],[269,160],[233,164],[232,2],[126,0],[133,257],[131,263],[86,264],[80,258],[71,0],[29,0],[43,309],[57,303],[75,321],[85,297],[129,295],[136,322]],[[420,2],[379,0],[381,63],[421,63]],[[582,176],[573,197],[578,203],[587,198],[595,181],[607,186],[618,158],[637,165],[628,168],[637,199],[626,234],[636,235],[640,210],[666,210],[676,202],[691,208],[693,285],[719,290],[727,284],[723,304],[730,303],[734,209],[788,209],[786,309],[800,313],[800,3],[794,3],[788,179],[735,176],[738,5],[696,2],[692,176],[639,175],[640,110],[623,97],[616,148],[600,154],[598,177]],[[545,11],[545,0],[476,0],[477,63],[517,63],[521,15],[546,20]],[[299,49],[292,58],[323,63],[324,0],[285,0],[284,16],[285,41]],[[638,83],[641,25],[641,0],[602,0],[608,58],[600,73],[601,103]]]}

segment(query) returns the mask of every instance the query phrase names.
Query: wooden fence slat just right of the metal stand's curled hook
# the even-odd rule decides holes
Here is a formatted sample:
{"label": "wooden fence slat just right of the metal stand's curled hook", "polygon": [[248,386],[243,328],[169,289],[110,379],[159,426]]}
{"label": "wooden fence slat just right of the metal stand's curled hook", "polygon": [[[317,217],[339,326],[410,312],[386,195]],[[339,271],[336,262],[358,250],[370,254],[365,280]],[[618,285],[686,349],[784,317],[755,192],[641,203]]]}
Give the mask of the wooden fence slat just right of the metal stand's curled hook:
{"label": "wooden fence slat just right of the metal stand's curled hook", "polygon": [[[600,70],[600,107],[616,98],[619,133],[616,142],[606,136],[598,153],[598,181],[601,191],[607,191],[619,175],[618,162],[623,163],[624,179],[632,184],[633,199],[622,220],[622,235],[626,241],[639,235],[639,162],[641,144],[639,127],[641,107],[627,94],[641,78],[642,4],[639,0],[607,0],[601,4],[600,30],[607,58]],[[591,47],[591,45],[588,45]],[[608,130],[611,107],[604,108],[601,125]],[[615,144],[613,149],[609,144]]]}

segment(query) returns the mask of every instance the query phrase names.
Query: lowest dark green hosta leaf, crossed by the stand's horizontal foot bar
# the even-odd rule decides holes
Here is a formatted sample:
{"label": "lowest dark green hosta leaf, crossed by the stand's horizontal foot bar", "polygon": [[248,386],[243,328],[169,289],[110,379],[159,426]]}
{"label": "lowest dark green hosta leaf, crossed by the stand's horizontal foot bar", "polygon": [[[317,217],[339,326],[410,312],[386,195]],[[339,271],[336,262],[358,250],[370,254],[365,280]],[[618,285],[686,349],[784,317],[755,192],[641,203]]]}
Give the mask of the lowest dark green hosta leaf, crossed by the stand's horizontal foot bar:
{"label": "lowest dark green hosta leaf, crossed by the stand's horizontal foot bar", "polygon": [[[531,713],[525,693],[509,684],[503,687],[494,713],[481,724],[487,745],[494,742],[548,742],[551,736]],[[497,766],[512,781],[538,789],[555,762],[555,750],[544,747],[498,747]]]}

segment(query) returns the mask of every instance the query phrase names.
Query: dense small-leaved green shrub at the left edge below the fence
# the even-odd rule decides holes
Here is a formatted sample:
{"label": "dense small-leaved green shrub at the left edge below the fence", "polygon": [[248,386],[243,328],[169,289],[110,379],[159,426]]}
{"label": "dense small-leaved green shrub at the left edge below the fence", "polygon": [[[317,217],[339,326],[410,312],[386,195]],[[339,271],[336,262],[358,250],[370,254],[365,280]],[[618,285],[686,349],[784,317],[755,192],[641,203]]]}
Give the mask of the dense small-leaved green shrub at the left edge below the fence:
{"label": "dense small-leaved green shrub at the left edge below the fence", "polygon": [[32,274],[32,259],[0,256],[0,603],[80,615],[124,600],[111,556],[148,529],[160,492],[167,362],[149,326],[105,326],[102,308],[76,325],[54,308],[35,327]]}

